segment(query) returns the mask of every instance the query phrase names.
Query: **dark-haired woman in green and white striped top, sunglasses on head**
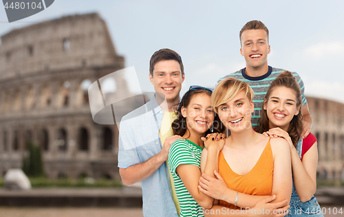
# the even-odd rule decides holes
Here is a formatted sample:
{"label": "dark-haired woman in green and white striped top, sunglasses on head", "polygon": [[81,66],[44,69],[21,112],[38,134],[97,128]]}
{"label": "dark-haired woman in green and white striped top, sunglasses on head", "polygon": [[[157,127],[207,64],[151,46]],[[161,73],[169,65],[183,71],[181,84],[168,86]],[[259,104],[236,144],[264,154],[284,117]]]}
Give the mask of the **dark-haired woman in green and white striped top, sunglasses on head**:
{"label": "dark-haired woman in green and white striped top, sunglasses on head", "polygon": [[[168,160],[180,203],[180,216],[183,217],[204,216],[204,209],[213,206],[213,198],[200,192],[198,187],[204,145],[208,149],[208,161],[202,172],[210,176],[214,176],[213,171],[217,170],[219,151],[224,146],[225,137],[220,133],[224,131],[224,126],[215,117],[211,106],[212,92],[212,89],[191,86],[184,94],[178,106],[178,118],[172,124],[173,133],[184,137],[171,145]],[[212,130],[217,133],[208,135]],[[211,138],[206,144],[201,139],[205,135]]]}

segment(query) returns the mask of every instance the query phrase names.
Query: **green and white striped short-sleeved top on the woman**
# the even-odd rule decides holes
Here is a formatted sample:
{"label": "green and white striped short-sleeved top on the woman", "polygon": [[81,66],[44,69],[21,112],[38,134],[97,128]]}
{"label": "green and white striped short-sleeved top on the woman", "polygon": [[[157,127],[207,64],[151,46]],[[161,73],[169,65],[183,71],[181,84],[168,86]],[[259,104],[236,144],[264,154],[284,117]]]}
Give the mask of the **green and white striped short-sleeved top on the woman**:
{"label": "green and white striped short-sleeved top on the woman", "polygon": [[169,150],[169,168],[173,176],[175,192],[180,203],[180,217],[204,216],[202,207],[195,201],[175,171],[181,164],[196,165],[200,168],[202,148],[188,139],[177,139]]}

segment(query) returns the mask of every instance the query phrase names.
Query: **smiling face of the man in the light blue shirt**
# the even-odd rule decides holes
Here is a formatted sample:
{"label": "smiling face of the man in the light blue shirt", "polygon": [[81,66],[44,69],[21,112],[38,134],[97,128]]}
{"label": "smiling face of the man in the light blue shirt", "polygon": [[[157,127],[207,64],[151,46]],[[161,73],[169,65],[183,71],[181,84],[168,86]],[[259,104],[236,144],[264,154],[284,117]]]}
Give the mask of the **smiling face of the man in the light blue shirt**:
{"label": "smiling face of the man in the light blue shirt", "polygon": [[154,85],[156,93],[164,94],[167,102],[179,100],[179,93],[184,82],[184,74],[176,60],[160,60],[155,63],[153,76],[149,80]]}

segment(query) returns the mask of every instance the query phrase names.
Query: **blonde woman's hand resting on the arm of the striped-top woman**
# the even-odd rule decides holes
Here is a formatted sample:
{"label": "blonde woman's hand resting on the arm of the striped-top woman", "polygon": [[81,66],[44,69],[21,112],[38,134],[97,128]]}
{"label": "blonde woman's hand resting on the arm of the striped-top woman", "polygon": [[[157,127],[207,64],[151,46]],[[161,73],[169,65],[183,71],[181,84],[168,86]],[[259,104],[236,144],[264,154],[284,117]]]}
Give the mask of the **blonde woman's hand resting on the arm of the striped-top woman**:
{"label": "blonde woman's hand resting on the arm of the striped-top woman", "polygon": [[203,173],[200,177],[198,188],[203,194],[211,196],[217,200],[226,201],[226,191],[229,190],[222,176],[214,170],[216,178]]}

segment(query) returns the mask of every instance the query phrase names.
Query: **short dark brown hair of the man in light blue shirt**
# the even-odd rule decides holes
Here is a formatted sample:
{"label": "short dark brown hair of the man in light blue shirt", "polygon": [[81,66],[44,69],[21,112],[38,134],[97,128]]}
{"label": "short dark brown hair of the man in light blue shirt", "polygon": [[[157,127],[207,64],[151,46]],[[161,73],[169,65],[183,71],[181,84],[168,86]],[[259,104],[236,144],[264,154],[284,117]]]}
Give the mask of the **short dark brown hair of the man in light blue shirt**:
{"label": "short dark brown hair of the man in light blue shirt", "polygon": [[154,66],[157,62],[160,60],[175,60],[179,63],[180,65],[180,71],[182,73],[182,76],[184,75],[184,66],[182,62],[182,57],[180,55],[168,48],[163,48],[155,52],[151,56],[151,60],[149,61],[149,73],[151,73],[151,76],[153,77],[153,71],[154,71]]}

